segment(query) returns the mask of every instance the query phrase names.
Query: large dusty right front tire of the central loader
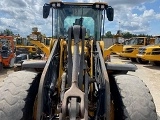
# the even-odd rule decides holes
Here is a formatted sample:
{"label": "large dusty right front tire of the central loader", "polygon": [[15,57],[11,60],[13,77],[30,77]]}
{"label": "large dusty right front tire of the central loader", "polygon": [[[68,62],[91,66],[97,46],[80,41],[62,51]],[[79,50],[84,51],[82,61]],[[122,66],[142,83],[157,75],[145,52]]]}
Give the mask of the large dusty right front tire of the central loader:
{"label": "large dusty right front tire of the central loader", "polygon": [[138,77],[116,75],[111,79],[115,120],[157,120],[153,98]]}

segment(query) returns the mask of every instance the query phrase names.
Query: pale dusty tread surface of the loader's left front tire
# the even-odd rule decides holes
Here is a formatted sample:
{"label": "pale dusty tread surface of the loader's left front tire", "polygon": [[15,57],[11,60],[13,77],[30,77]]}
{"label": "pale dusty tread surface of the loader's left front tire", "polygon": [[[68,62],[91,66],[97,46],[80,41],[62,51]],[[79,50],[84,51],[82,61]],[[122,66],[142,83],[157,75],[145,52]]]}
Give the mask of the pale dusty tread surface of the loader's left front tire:
{"label": "pale dusty tread surface of the loader's left front tire", "polygon": [[26,96],[37,73],[18,71],[4,79],[0,86],[0,118],[2,120],[20,120]]}

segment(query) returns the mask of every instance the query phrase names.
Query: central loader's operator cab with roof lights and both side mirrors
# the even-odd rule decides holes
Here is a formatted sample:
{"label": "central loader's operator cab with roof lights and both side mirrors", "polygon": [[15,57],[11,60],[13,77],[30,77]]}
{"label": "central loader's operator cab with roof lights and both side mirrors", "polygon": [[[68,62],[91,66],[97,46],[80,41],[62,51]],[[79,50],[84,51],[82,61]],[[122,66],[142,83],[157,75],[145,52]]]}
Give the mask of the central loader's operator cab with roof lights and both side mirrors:
{"label": "central loader's operator cab with roof lights and both side mirrors", "polygon": [[52,30],[56,38],[65,37],[69,27],[80,25],[85,27],[95,40],[100,40],[103,32],[101,26],[105,21],[106,13],[108,20],[113,20],[113,8],[104,3],[51,2],[43,6],[44,18],[48,17],[50,8],[54,9],[55,13],[52,16],[56,18]]}

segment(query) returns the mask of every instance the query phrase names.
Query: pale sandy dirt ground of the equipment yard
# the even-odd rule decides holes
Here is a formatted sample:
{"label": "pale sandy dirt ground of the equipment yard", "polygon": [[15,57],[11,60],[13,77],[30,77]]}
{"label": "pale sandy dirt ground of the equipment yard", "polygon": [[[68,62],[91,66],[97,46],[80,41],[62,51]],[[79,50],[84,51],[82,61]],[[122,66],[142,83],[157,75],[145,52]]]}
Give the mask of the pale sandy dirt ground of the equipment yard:
{"label": "pale sandy dirt ground of the equipment yard", "polygon": [[[119,59],[117,56],[112,56],[111,61],[113,62],[129,62],[132,63],[130,60],[123,60]],[[158,120],[160,120],[160,67],[158,66],[152,66],[150,64],[142,65],[138,63],[133,63],[138,67],[138,70],[136,72],[128,72],[128,74],[136,75],[140,79],[143,80],[143,82],[147,85],[149,88],[155,105],[156,110],[158,113]],[[3,71],[0,71],[0,82],[3,82],[4,78],[7,77],[8,74],[14,72],[13,69],[3,69]],[[2,84],[1,84],[2,85]]]}

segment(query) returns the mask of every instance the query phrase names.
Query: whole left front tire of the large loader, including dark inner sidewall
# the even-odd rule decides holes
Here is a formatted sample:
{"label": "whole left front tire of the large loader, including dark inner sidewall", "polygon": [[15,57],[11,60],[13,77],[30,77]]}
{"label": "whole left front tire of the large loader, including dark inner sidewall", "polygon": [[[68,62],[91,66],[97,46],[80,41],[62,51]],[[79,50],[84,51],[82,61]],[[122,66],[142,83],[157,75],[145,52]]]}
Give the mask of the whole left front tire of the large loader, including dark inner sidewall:
{"label": "whole left front tire of the large loader, including dark inner sidewall", "polygon": [[40,74],[18,71],[10,74],[0,86],[0,118],[32,120]]}

